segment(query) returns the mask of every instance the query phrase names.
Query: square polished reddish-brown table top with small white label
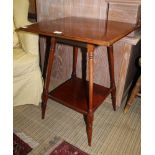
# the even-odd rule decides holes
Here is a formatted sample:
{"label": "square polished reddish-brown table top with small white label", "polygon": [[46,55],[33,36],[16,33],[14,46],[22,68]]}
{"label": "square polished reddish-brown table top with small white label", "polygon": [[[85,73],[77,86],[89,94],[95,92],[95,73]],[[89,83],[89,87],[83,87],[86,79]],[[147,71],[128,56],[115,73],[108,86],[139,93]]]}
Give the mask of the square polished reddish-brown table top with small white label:
{"label": "square polished reddish-brown table top with small white label", "polygon": [[72,41],[110,46],[137,28],[138,26],[135,24],[117,21],[65,17],[36,22],[18,30]]}

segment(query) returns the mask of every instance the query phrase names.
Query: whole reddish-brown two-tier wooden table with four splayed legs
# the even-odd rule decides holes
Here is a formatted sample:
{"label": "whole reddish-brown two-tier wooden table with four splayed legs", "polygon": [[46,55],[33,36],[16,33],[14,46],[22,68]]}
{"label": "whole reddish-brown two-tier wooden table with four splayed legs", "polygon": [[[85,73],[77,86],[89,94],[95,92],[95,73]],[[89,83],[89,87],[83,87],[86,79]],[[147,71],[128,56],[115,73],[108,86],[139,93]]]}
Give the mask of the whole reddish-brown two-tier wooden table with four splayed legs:
{"label": "whole reddish-brown two-tier wooden table with four splayed legs", "polygon": [[[48,60],[45,60],[48,62],[42,95],[42,118],[45,117],[47,100],[49,98],[83,114],[86,120],[88,144],[91,146],[94,112],[109,94],[111,94],[112,97],[113,109],[116,110],[113,44],[137,29],[137,27],[138,26],[134,24],[110,20],[65,17],[41,21],[19,28],[19,30],[22,31],[51,37],[49,57]],[[70,79],[54,90],[49,91],[55,46],[60,39],[74,42],[73,71]],[[80,79],[76,76],[79,44],[85,45],[87,49],[89,81]],[[106,88],[93,82],[94,49],[97,46],[107,47],[110,88]]]}

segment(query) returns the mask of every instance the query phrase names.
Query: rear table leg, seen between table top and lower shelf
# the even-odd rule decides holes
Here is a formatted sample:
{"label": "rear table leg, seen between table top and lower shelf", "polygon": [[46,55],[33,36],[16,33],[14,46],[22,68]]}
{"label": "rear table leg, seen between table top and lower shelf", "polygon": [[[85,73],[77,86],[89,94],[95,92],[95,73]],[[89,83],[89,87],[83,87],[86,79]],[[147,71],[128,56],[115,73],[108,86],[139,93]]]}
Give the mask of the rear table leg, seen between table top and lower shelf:
{"label": "rear table leg, seen between table top and lower shelf", "polygon": [[72,78],[76,77],[76,64],[77,64],[77,56],[78,56],[78,47],[73,47],[73,71]]}

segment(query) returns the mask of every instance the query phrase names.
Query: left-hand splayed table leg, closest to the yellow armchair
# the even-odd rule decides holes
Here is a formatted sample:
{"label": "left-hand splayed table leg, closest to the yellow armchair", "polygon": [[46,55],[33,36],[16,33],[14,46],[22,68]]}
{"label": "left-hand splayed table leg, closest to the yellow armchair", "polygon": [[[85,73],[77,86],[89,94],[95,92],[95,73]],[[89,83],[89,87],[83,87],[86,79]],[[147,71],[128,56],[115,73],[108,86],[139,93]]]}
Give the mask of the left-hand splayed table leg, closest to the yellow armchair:
{"label": "left-hand splayed table leg, closest to the yellow armchair", "polygon": [[49,91],[48,89],[49,89],[51,70],[52,70],[52,65],[54,60],[55,45],[56,45],[56,39],[51,38],[51,50],[48,57],[47,71],[46,71],[45,83],[44,83],[44,89],[43,89],[43,95],[42,95],[42,119],[44,119],[45,117],[46,105],[48,100],[48,91]]}

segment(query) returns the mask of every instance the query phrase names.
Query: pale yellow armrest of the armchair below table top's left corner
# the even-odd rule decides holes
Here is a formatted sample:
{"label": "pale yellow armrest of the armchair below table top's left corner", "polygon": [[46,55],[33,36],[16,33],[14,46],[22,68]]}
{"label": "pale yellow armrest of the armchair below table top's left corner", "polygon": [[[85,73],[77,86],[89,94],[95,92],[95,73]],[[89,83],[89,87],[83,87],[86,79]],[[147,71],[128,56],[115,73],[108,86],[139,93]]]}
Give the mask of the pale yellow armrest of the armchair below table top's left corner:
{"label": "pale yellow armrest of the armchair below table top's left corner", "polygon": [[[27,22],[25,25],[30,25],[32,23]],[[19,40],[22,45],[22,48],[25,52],[30,52],[34,55],[39,54],[39,36],[37,34],[29,32],[18,32]]]}

